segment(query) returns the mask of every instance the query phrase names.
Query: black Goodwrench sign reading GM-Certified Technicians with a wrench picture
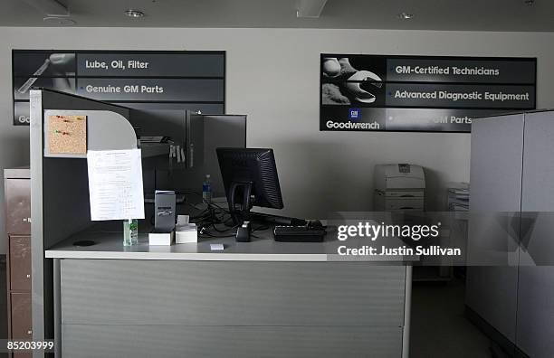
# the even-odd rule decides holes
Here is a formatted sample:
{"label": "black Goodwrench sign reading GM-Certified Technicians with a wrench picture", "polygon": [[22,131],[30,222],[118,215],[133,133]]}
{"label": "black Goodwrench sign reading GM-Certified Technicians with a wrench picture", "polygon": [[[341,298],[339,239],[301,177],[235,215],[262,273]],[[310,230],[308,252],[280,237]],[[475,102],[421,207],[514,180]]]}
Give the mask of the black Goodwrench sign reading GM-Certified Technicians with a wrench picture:
{"label": "black Goodwrench sign reading GM-Certified Technicians with a wrench picture", "polygon": [[320,130],[469,132],[536,107],[537,60],[321,54]]}

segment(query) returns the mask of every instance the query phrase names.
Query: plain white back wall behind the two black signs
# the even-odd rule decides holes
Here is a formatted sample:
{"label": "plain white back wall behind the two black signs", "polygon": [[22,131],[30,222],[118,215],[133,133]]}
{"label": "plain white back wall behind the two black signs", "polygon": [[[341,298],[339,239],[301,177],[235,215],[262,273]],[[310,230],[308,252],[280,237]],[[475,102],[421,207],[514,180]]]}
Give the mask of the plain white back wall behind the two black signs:
{"label": "plain white back wall behind the two black signs", "polygon": [[0,168],[28,156],[28,127],[11,125],[12,49],[224,50],[227,112],[249,115],[249,146],[275,149],[285,213],[369,210],[378,163],[428,168],[428,207],[440,210],[444,185],[469,180],[470,136],[320,132],[320,52],[536,56],[538,107],[553,108],[552,43],[554,33],[0,27]]}

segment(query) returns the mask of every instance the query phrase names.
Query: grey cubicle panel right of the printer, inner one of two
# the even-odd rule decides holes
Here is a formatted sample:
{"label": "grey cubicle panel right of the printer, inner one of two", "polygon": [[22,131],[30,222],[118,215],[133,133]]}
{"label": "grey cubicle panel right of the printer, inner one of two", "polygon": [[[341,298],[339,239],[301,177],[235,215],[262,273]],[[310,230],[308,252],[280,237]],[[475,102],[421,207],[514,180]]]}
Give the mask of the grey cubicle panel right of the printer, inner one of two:
{"label": "grey cubicle panel right of the printer, inner one of two", "polygon": [[[512,342],[516,336],[523,114],[472,124],[466,305]],[[517,229],[516,229],[517,230]],[[519,230],[517,230],[519,231]],[[482,266],[477,266],[482,265]]]}

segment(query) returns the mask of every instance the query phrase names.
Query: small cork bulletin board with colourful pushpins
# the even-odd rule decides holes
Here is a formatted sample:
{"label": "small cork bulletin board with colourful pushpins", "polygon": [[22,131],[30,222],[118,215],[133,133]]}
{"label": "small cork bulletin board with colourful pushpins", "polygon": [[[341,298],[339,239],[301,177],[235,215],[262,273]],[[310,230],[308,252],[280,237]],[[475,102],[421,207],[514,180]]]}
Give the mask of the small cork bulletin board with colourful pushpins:
{"label": "small cork bulletin board with colourful pushpins", "polygon": [[87,116],[48,116],[48,131],[50,154],[87,154]]}

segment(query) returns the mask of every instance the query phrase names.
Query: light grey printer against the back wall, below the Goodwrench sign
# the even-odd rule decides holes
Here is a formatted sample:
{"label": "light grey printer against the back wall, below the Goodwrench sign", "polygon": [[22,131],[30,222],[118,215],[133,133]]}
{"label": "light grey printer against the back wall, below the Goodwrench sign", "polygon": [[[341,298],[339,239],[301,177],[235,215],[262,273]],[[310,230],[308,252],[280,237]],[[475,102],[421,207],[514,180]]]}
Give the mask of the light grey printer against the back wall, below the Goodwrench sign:
{"label": "light grey printer against the back wall, below the Goodwrench sign", "polygon": [[425,173],[419,165],[375,165],[374,211],[423,212]]}

